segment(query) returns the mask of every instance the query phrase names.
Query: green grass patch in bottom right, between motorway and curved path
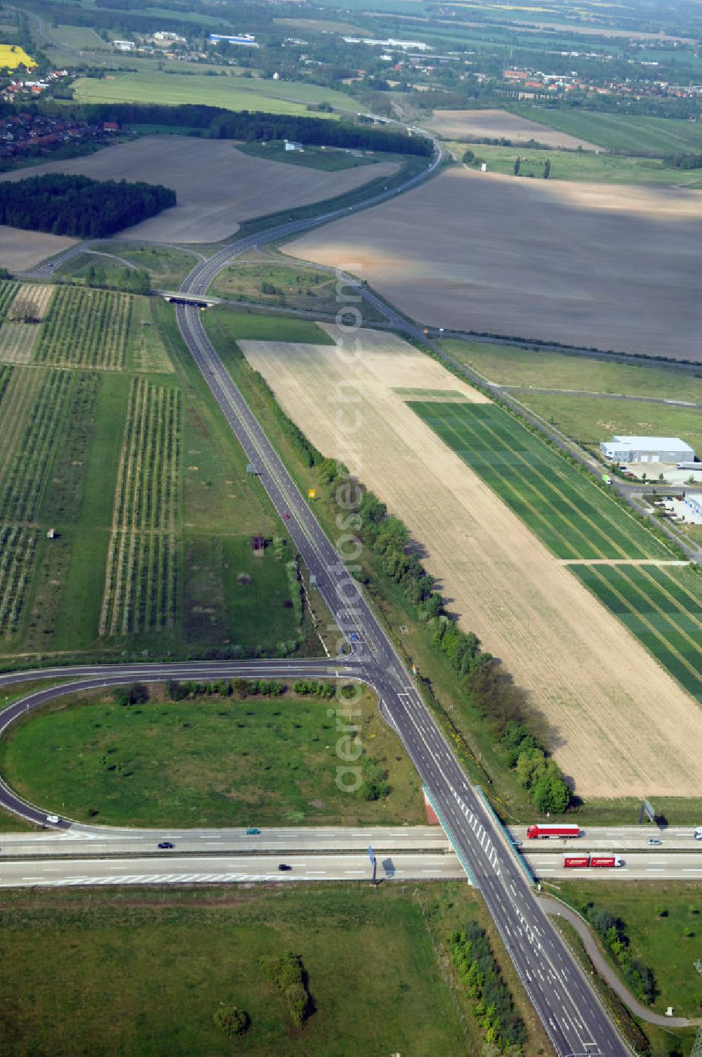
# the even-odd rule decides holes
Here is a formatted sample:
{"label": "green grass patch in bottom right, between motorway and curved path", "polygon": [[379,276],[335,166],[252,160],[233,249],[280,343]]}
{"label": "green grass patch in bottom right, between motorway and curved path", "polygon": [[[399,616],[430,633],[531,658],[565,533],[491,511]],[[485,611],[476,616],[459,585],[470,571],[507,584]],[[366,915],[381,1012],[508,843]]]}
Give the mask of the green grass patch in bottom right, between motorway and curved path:
{"label": "green grass patch in bottom right, between motorway and curved path", "polygon": [[[591,904],[623,922],[633,957],[656,973],[657,1013],[672,1005],[678,1017],[699,1017],[702,980],[692,964],[700,957],[702,937],[699,883],[577,882],[559,885],[558,895],[581,912]],[[686,928],[695,933],[688,939],[684,937]]]}

